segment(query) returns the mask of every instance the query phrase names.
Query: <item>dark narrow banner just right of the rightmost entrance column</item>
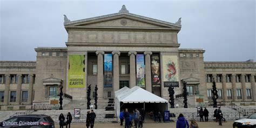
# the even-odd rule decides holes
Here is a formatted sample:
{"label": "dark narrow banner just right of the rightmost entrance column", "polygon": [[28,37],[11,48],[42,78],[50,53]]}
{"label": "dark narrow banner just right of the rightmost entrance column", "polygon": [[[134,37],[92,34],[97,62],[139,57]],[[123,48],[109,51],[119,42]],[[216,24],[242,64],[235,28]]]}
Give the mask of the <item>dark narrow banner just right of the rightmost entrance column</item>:
{"label": "dark narrow banner just right of the rightmost entrance column", "polygon": [[160,64],[159,64],[159,56],[151,55],[151,80],[153,87],[160,87]]}

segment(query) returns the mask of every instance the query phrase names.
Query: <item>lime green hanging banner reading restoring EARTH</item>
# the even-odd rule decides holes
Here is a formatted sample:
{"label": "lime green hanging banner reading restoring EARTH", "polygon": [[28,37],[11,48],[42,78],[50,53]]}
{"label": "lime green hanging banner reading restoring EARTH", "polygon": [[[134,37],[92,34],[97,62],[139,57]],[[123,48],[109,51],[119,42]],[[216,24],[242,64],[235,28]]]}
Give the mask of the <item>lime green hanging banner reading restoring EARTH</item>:
{"label": "lime green hanging banner reading restoring EARTH", "polygon": [[84,88],[85,56],[69,55],[69,88]]}

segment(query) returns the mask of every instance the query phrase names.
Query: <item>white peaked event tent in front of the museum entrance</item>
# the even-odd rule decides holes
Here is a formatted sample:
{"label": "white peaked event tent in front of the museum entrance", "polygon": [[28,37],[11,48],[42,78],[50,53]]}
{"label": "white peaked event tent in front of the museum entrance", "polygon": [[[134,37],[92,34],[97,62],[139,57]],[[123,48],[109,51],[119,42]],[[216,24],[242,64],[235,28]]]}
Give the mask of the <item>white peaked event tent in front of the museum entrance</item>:
{"label": "white peaked event tent in front of the museum entrance", "polygon": [[[117,117],[120,113],[120,104],[137,104],[137,103],[158,103],[159,110],[168,110],[168,100],[161,98],[153,93],[142,89],[139,86],[134,86],[132,89],[129,87],[123,87],[122,89],[115,92],[114,99],[114,110],[116,111]],[[145,108],[144,108],[145,109]]]}

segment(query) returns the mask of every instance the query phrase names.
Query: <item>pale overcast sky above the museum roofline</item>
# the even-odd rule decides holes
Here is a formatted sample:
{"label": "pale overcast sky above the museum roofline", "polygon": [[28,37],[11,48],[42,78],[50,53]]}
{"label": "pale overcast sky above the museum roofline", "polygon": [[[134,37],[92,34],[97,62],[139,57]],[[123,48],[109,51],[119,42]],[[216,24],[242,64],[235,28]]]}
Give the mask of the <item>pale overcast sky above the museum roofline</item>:
{"label": "pale overcast sky above the museum roofline", "polygon": [[180,48],[204,49],[205,61],[256,61],[254,0],[13,1],[0,0],[0,60],[36,60],[37,47],[65,47],[71,21],[117,13],[175,23]]}

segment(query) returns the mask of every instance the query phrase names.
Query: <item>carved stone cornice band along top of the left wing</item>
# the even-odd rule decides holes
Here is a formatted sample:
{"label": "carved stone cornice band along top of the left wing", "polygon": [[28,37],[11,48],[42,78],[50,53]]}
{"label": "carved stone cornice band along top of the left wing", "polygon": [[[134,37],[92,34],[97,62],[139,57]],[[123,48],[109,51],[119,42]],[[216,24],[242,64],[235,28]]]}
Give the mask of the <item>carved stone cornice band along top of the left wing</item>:
{"label": "carved stone cornice band along top of the left wing", "polygon": [[36,68],[36,62],[0,61],[0,68]]}

